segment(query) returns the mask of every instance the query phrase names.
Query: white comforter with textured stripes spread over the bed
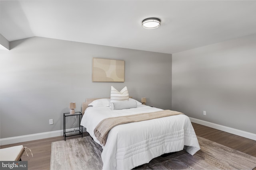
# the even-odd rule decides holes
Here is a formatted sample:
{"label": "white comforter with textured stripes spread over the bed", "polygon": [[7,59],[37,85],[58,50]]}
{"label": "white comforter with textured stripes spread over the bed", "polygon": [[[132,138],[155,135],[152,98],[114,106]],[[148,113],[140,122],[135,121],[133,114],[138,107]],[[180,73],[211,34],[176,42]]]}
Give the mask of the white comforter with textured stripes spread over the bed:
{"label": "white comforter with textured stripes spread over the bed", "polygon": [[[137,108],[122,110],[88,107],[81,125],[99,143],[93,131],[103,119],[160,110],[162,109],[142,104]],[[109,132],[106,145],[102,147],[103,169],[132,169],[164,153],[183,150],[184,146],[191,155],[200,150],[192,124],[186,115],[118,125]]]}

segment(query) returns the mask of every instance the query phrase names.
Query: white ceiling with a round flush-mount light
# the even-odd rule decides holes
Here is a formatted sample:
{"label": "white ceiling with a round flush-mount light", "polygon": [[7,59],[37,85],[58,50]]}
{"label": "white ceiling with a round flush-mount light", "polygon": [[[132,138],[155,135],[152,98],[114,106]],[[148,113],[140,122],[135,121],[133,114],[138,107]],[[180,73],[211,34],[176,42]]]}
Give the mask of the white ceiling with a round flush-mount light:
{"label": "white ceiling with a round flush-mount light", "polygon": [[172,54],[256,34],[256,1],[1,0],[0,33]]}

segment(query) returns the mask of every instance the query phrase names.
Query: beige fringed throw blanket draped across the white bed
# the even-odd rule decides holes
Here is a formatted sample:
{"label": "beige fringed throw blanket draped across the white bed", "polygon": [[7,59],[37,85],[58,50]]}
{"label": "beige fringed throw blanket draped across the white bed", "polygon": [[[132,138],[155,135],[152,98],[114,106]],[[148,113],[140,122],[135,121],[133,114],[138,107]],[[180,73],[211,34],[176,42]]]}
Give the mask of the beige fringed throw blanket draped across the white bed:
{"label": "beige fringed throw blanket draped across the white bed", "polygon": [[98,139],[100,144],[105,146],[107,137],[108,137],[108,132],[117,125],[138,122],[138,121],[145,121],[145,120],[156,119],[160,117],[167,117],[172,115],[179,115],[179,114],[183,114],[183,113],[178,111],[172,111],[172,110],[162,110],[162,111],[155,111],[151,113],[140,113],[135,115],[109,117],[100,121],[100,123],[94,129],[94,135]]}

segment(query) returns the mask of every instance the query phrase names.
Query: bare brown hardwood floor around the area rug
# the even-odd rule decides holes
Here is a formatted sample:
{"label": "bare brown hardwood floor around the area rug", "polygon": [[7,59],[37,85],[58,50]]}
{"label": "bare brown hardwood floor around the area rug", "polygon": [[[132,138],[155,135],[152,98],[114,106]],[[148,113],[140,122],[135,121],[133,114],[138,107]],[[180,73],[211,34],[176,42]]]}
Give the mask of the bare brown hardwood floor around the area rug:
{"label": "bare brown hardwood floor around the area rug", "polygon": [[[241,152],[250,154],[256,157],[256,141],[247,139],[244,137],[240,137],[237,135],[233,135],[230,133],[226,133],[224,131],[219,131],[217,129],[213,129],[210,127],[206,127],[203,125],[199,125],[196,123],[192,123],[196,135],[203,137],[205,139],[209,139],[221,145],[240,150]],[[83,133],[84,136],[88,135],[87,132]],[[75,136],[79,137],[79,136]],[[71,139],[69,137],[68,139]],[[74,137],[73,137],[74,138]],[[22,160],[28,160],[28,169],[37,169],[37,170],[49,170],[50,169],[50,157],[51,157],[51,146],[52,142],[64,140],[63,136],[60,137],[52,137],[47,139],[40,139],[36,141],[28,141],[22,143],[16,143],[11,145],[3,145],[2,148],[12,147],[17,145],[23,145],[24,147],[28,147],[32,150],[33,158],[28,152],[28,155],[24,152],[22,155]],[[256,168],[254,168],[256,169]]]}

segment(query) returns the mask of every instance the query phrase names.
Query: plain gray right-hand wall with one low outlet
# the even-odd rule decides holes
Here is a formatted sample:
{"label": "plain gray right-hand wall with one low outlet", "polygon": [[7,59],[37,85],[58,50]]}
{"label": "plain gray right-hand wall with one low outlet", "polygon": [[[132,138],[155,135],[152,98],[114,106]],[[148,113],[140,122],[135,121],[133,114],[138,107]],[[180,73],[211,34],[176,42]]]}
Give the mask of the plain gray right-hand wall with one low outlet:
{"label": "plain gray right-hand wall with one low outlet", "polygon": [[256,35],[173,54],[172,109],[256,134]]}

